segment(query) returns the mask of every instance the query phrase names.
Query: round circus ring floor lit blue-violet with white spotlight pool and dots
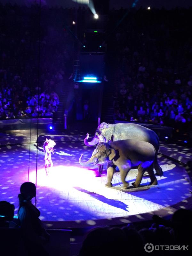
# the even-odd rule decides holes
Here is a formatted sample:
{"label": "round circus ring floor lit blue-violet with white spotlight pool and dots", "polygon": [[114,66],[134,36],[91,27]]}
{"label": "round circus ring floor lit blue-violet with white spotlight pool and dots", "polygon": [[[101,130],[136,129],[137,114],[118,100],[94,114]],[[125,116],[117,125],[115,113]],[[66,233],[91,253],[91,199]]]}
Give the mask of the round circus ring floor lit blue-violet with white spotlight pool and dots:
{"label": "round circus ring floor lit blue-violet with white spotlight pool and dots", "polygon": [[[85,135],[86,132],[78,130],[48,135],[26,130],[1,132],[0,200],[15,205],[15,216],[20,185],[25,181],[36,183],[33,203],[41,212],[41,220],[50,228],[123,224],[191,208],[191,181],[181,164],[191,159],[189,148],[161,143],[158,161],[164,176],[157,176],[156,186],[149,186],[149,177],[144,175],[141,187],[133,188],[131,183],[137,170],[131,170],[126,179],[129,188],[122,188],[119,172],[114,174],[113,187],[106,188],[106,165],[102,176],[95,177],[97,166],[79,164],[80,155],[84,154],[85,161],[94,149],[84,145]],[[54,165],[48,176],[42,148],[46,138],[56,142]]]}

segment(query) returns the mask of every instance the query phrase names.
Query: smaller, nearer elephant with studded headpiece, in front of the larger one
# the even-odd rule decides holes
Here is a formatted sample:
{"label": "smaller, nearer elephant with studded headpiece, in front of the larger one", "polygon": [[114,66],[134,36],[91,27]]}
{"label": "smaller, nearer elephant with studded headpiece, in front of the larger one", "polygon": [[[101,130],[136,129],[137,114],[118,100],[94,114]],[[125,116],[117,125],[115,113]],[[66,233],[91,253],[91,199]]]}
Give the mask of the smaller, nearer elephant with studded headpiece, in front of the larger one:
{"label": "smaller, nearer elephant with studded headpiece, in front of the larger one", "polygon": [[106,187],[112,187],[113,174],[116,166],[119,168],[123,187],[127,188],[129,183],[125,181],[130,169],[138,169],[138,175],[132,185],[138,188],[141,183],[144,172],[148,172],[151,180],[150,185],[157,185],[157,179],[153,172],[153,162],[157,161],[156,150],[152,144],[146,141],[135,140],[117,140],[108,143],[100,142],[87,162],[82,162],[82,156],[79,163],[83,166],[90,164],[103,164],[108,159],[107,166],[107,184]]}

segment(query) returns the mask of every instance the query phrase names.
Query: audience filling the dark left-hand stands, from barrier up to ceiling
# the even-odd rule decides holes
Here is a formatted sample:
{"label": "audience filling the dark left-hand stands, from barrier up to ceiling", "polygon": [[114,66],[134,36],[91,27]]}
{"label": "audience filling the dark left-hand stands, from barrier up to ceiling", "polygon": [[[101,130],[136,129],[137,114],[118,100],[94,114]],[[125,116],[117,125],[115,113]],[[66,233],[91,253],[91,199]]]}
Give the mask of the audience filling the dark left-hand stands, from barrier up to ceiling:
{"label": "audience filling the dark left-hand stands, from barrier up to ceiling", "polygon": [[72,70],[69,10],[39,11],[0,4],[0,119],[53,117]]}

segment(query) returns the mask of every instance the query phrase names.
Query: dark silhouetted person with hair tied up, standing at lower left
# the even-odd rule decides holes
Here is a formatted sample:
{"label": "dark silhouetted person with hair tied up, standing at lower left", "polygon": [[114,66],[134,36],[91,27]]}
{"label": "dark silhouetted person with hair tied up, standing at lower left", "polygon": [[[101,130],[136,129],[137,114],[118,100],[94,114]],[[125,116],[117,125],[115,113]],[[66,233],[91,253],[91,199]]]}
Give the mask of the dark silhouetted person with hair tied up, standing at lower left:
{"label": "dark silhouetted person with hair tied up, standing at lower left", "polygon": [[40,212],[32,204],[31,199],[36,196],[36,186],[32,182],[24,182],[20,187],[18,218],[22,229],[26,255],[49,255],[46,244],[50,235],[39,219]]}

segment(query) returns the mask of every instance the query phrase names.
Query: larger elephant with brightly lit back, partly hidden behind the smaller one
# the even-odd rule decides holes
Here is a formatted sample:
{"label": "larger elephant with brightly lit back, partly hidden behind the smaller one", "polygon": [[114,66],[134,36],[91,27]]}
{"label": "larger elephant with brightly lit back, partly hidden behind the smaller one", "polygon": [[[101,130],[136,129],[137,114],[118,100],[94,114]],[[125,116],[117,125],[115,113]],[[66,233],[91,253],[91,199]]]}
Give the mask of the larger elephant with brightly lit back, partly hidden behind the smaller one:
{"label": "larger elephant with brightly lit back, partly hidden behind the smaller one", "polygon": [[[151,143],[156,153],[159,150],[159,138],[157,134],[140,124],[107,124],[101,123],[95,132],[95,136],[92,141],[88,142],[89,134],[87,133],[84,139],[84,144],[86,146],[96,145],[98,142],[112,142],[116,140],[137,140],[146,141]],[[158,162],[155,160],[153,163],[156,174],[159,176],[163,175],[162,169]]]}

